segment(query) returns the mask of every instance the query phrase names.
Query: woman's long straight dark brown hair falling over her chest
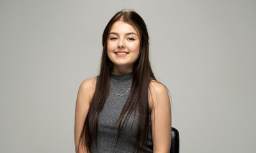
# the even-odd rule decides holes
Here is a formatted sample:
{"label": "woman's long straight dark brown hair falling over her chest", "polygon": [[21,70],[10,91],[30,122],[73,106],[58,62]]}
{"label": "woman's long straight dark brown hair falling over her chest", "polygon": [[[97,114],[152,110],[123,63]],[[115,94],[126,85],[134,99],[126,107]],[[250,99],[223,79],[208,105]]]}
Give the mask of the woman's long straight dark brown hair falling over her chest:
{"label": "woman's long straight dark brown hair falling over her chest", "polygon": [[156,80],[150,66],[148,55],[148,31],[144,20],[140,17],[140,15],[138,15],[138,13],[135,11],[122,10],[116,13],[111,20],[109,20],[108,25],[106,25],[102,35],[103,51],[100,72],[99,76],[97,77],[96,88],[90,103],[90,108],[84,121],[83,131],[79,139],[79,145],[81,142],[84,142],[84,149],[86,149],[88,152],[92,152],[93,140],[97,147],[98,120],[104,103],[108,98],[110,89],[110,72],[113,68],[113,62],[111,62],[107,55],[107,42],[110,29],[118,20],[122,20],[127,24],[132,25],[132,27],[138,31],[140,38],[140,54],[136,62],[133,64],[133,78],[129,97],[118,118],[119,126],[116,143],[118,143],[118,138],[120,138],[122,135],[122,131],[125,129],[125,124],[131,116],[131,113],[136,109],[139,111],[137,126],[138,133],[134,143],[133,152],[141,152],[141,150],[144,149],[143,146],[145,146],[148,141],[148,133],[150,132],[148,87],[150,84],[150,77]]}

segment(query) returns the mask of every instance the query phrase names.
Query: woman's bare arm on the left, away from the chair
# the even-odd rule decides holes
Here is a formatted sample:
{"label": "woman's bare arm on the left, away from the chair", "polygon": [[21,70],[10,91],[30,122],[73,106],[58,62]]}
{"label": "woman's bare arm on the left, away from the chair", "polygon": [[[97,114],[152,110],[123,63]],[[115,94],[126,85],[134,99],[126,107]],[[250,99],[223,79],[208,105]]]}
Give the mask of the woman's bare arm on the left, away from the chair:
{"label": "woman's bare arm on the left, away from the chair", "polygon": [[[86,79],[81,83],[77,93],[74,131],[76,152],[78,152],[79,138],[83,130],[84,120],[90,108],[90,101],[92,100],[95,86],[96,78]],[[84,150],[84,142],[80,143],[79,153],[86,153],[86,150]]]}

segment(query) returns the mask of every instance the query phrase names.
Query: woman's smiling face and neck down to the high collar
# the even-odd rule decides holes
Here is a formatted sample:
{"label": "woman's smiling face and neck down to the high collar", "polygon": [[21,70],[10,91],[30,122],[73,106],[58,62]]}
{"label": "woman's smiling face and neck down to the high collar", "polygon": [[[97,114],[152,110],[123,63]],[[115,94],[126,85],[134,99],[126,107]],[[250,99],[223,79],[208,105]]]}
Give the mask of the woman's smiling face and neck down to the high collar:
{"label": "woman's smiling face and neck down to the high collar", "polygon": [[121,20],[116,21],[108,36],[108,57],[113,62],[113,73],[130,72],[140,54],[140,39],[132,27]]}

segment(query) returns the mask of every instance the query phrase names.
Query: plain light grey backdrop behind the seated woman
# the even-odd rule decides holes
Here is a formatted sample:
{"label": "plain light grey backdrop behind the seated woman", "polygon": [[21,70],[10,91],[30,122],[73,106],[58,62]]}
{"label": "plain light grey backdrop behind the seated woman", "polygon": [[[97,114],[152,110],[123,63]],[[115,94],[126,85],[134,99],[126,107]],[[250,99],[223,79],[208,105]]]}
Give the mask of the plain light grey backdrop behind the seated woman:
{"label": "plain light grey backdrop behind the seated woman", "polygon": [[0,152],[74,152],[79,85],[122,8],[144,18],[180,153],[256,152],[256,1],[0,1]]}

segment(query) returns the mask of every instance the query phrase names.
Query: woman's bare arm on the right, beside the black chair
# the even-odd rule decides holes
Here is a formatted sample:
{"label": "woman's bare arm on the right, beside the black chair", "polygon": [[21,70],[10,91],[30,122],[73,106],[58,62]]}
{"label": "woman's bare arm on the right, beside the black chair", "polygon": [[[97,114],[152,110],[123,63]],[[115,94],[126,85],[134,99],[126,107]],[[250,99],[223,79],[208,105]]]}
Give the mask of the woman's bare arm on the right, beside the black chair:
{"label": "woman's bare arm on the right, beside the black chair", "polygon": [[172,113],[166,87],[152,80],[148,91],[148,103],[152,110],[153,152],[169,153],[172,140]]}

